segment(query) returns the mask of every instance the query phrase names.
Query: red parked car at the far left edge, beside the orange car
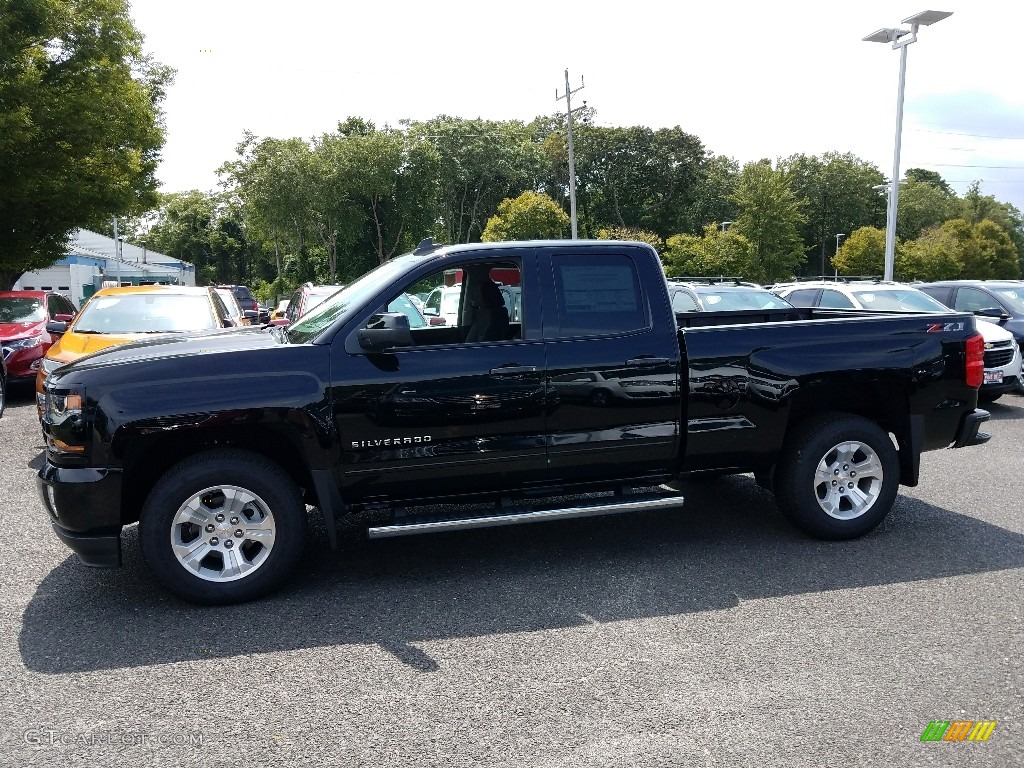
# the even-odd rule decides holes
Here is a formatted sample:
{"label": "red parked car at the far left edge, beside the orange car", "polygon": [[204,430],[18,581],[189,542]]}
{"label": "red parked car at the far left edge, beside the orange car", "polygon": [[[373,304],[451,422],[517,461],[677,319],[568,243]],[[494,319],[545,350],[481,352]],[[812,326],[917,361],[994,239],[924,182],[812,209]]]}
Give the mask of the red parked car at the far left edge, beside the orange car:
{"label": "red parked car at the far left edge, beside the orange car", "polygon": [[46,350],[59,338],[46,330],[50,322],[68,322],[78,310],[54,291],[0,292],[0,348],[11,382],[35,381]]}

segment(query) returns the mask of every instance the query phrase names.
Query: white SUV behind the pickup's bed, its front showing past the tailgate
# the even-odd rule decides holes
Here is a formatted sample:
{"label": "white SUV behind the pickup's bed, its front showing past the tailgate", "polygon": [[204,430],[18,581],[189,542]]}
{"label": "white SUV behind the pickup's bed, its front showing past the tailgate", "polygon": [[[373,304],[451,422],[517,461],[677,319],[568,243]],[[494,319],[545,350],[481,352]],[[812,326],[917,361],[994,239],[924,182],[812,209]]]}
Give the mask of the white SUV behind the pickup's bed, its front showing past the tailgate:
{"label": "white SUV behind the pickup's bed, its front showing past the tailgate", "polygon": [[[1018,289],[1024,289],[1024,283]],[[918,286],[879,281],[808,281],[775,286],[772,291],[794,306],[829,309],[871,309],[885,312],[941,312],[949,307],[919,290]],[[1021,291],[1024,294],[1024,291]],[[962,307],[958,307],[962,309]],[[978,399],[994,402],[1001,395],[1020,390],[1021,350],[1014,335],[994,323],[979,322],[985,339],[985,374]]]}

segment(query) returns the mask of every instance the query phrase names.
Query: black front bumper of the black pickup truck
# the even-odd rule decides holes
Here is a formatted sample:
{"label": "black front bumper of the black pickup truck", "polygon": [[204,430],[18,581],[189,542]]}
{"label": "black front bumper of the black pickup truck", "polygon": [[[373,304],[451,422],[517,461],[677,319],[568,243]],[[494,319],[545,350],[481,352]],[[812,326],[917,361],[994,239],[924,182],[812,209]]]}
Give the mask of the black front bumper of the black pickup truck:
{"label": "black front bumper of the black pickup truck", "polygon": [[36,485],[60,539],[86,565],[121,564],[121,471],[57,467],[47,461]]}

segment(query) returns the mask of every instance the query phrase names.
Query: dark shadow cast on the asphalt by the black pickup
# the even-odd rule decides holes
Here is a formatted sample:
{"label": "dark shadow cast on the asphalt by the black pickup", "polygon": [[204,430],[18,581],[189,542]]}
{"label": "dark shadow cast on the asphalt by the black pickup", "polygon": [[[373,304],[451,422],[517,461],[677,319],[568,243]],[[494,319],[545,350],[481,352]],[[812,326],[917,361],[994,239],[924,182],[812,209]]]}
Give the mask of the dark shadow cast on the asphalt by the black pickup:
{"label": "dark shadow cast on the asphalt by the black pickup", "polygon": [[40,584],[20,653],[29,669],[60,674],[376,643],[430,672],[417,642],[1024,566],[1024,536],[903,496],[871,535],[826,543],[796,531],[749,477],[686,493],[679,509],[615,517],[375,541],[352,530],[338,552],[314,517],[284,590],[218,608],[163,591],[129,528],[120,570],[69,557]]}

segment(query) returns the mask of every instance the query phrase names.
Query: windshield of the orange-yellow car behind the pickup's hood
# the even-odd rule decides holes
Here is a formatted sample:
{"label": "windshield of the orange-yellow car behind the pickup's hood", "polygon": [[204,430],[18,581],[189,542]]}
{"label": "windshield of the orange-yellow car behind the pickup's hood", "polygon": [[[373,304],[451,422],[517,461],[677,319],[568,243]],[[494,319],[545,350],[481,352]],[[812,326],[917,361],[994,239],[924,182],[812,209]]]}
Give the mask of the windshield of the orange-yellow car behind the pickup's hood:
{"label": "windshield of the orange-yellow car behind the pickup's hood", "polygon": [[208,331],[218,328],[206,294],[94,296],[72,330],[93,334]]}

